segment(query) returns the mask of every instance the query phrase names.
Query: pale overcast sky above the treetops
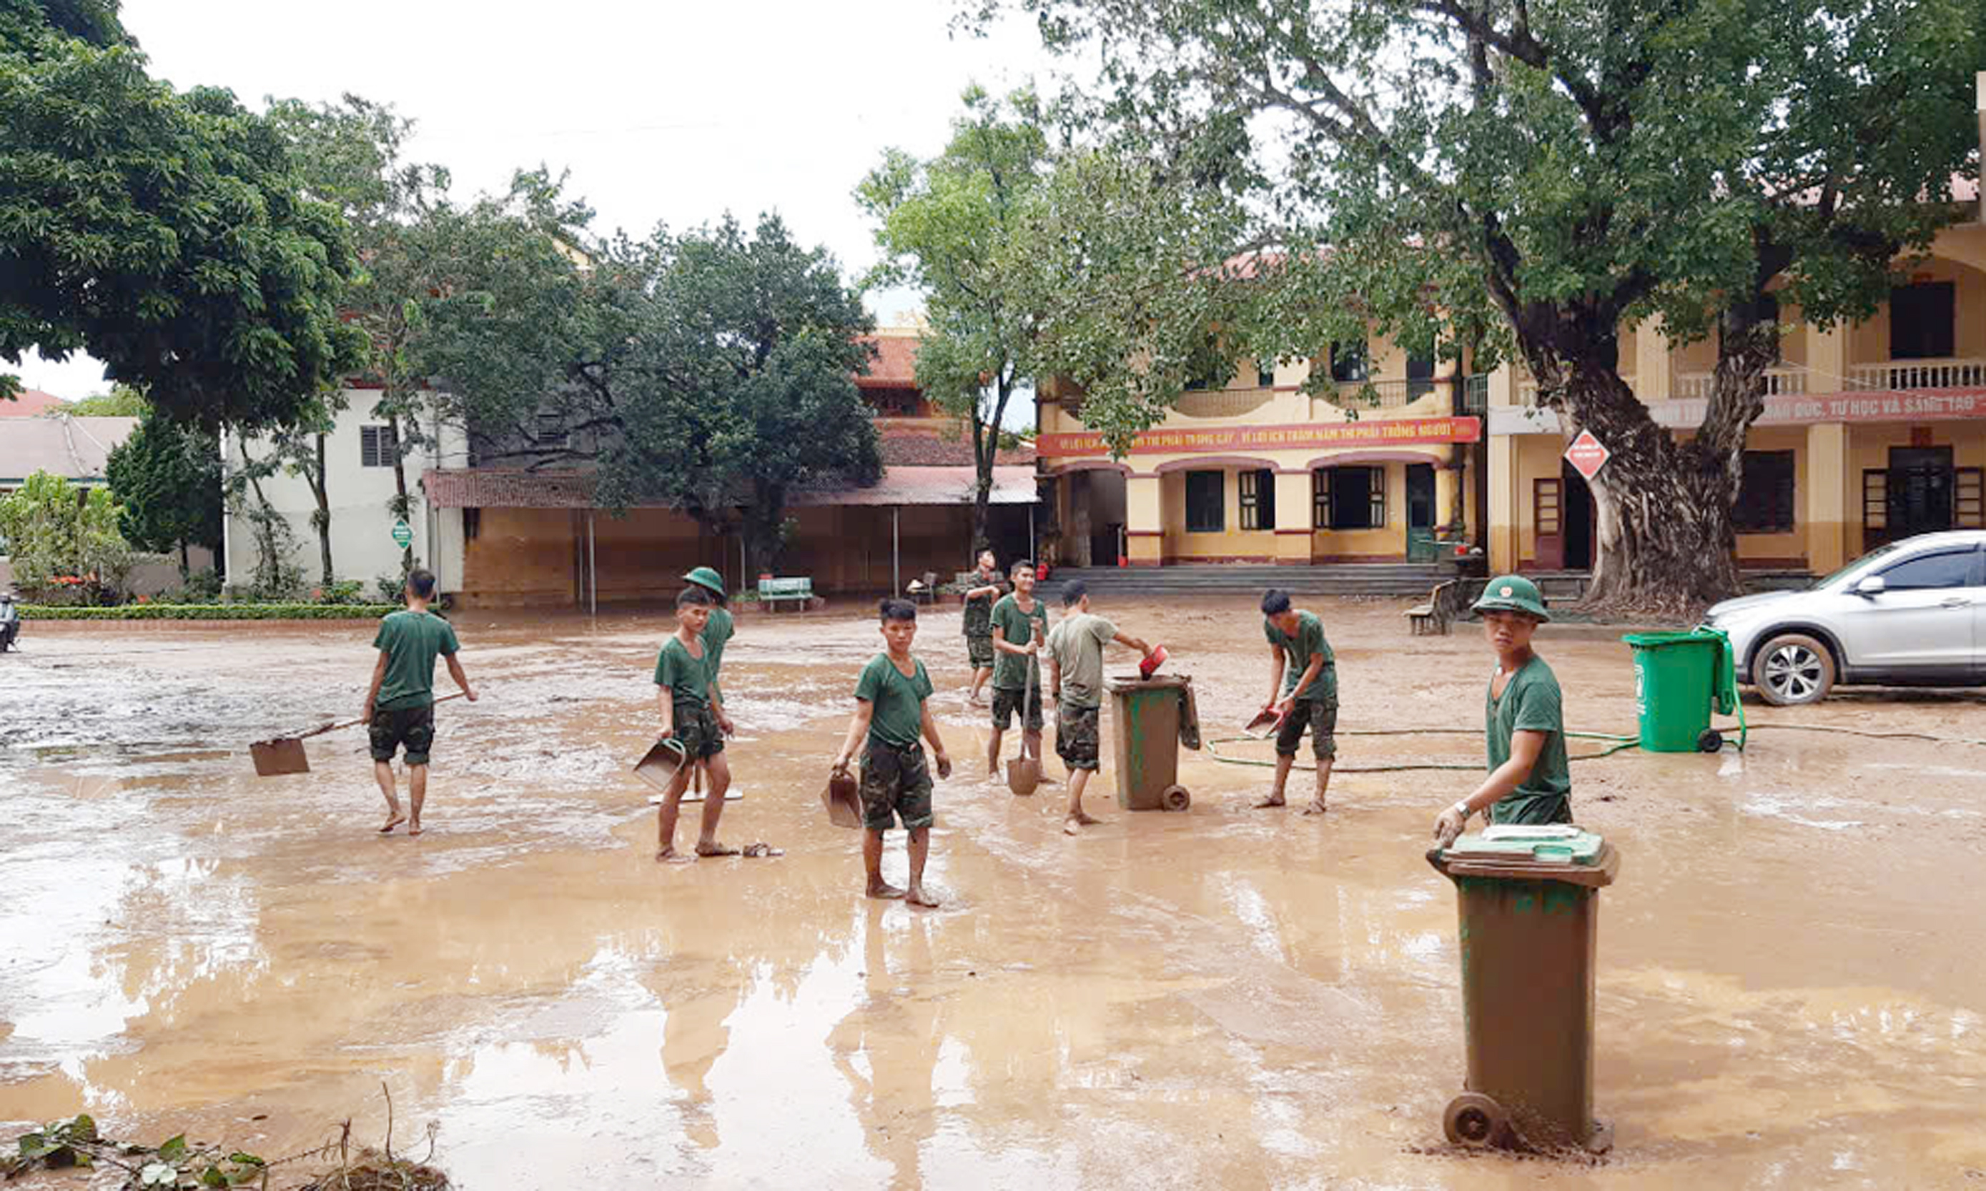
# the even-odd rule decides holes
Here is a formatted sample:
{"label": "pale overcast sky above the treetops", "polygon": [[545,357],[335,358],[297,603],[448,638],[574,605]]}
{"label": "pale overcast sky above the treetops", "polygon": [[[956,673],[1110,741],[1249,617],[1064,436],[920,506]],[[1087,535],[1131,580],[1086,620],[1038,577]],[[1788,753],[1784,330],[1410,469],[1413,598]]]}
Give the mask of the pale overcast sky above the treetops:
{"label": "pale overcast sky above the treetops", "polygon": [[[951,38],[951,12],[949,0],[123,4],[153,75],[177,87],[230,87],[258,109],[346,91],[393,103],[419,121],[409,157],[447,165],[459,197],[542,163],[572,171],[598,230],[779,210],[850,278],[874,260],[850,191],[882,151],[941,149],[969,81],[1007,89],[1051,71],[1033,26]],[[908,306],[888,296],[876,314],[894,322]],[[18,371],[58,397],[109,387],[79,357]]]}

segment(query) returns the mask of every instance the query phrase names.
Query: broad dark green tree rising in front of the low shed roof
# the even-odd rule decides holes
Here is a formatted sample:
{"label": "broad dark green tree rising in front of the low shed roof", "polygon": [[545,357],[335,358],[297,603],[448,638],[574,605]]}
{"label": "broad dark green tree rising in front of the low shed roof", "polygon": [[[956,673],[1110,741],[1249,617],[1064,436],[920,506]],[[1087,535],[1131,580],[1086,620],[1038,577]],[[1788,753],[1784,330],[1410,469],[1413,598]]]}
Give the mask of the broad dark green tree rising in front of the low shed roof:
{"label": "broad dark green tree rising in front of the low shed roof", "polygon": [[[550,232],[530,248],[530,226],[560,222],[556,185],[520,210],[538,214],[508,224],[506,270],[427,316],[423,359],[481,431],[481,461],[592,464],[604,506],[737,524],[753,566],[775,566],[792,496],[876,480],[854,385],[872,322],[826,250],[767,214],[753,230],[725,218],[586,242],[574,264]],[[540,441],[540,415],[554,415],[556,445]]]}

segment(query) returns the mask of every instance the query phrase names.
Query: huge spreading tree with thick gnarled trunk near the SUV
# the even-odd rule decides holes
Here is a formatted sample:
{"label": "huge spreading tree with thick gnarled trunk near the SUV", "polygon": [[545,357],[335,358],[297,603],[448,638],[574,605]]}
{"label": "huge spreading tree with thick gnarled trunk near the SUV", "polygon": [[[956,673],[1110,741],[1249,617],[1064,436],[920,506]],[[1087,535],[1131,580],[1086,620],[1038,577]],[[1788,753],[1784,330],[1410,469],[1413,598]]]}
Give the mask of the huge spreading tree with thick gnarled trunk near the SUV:
{"label": "huge spreading tree with thick gnarled trunk near the SUV", "polygon": [[[1760,294],[1823,326],[1877,308],[1956,214],[1986,48],[1972,0],[1019,6],[1100,60],[1118,127],[1198,125],[1247,163],[1289,232],[1283,320],[1426,333],[1438,302],[1493,330],[1613,451],[1591,599],[1666,611],[1738,584],[1730,508],[1781,333]],[[1718,339],[1686,441],[1621,379],[1636,324]]]}

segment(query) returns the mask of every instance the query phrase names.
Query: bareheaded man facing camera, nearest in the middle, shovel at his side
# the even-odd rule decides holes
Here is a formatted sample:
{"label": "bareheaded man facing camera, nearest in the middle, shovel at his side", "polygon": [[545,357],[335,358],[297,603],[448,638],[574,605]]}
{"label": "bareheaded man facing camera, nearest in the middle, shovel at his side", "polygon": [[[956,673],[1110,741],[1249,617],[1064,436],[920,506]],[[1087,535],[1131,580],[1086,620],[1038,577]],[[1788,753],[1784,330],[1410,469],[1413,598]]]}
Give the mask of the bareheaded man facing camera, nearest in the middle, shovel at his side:
{"label": "bareheaded man facing camera, nearest in the middle, shovel at his side", "polygon": [[[935,907],[923,889],[923,861],[931,856],[931,770],[922,740],[931,742],[937,776],[951,776],[951,756],[937,738],[937,721],[925,699],[931,675],[910,651],[918,639],[918,605],[884,599],[878,607],[886,649],[862,667],[856,679],[856,713],[848,719],[848,738],[834,758],[834,772],[862,748],[862,867],[870,897],[906,897],[912,905]],[[910,832],[910,889],[882,879],[882,834],[902,822]]]}

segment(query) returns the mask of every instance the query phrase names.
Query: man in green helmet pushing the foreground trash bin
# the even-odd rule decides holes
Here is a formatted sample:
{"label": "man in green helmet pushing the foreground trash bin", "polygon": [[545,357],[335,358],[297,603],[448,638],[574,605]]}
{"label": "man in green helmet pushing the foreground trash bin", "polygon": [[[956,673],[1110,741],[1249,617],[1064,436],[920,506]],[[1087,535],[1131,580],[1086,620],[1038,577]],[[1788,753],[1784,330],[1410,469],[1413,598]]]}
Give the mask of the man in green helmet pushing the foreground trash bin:
{"label": "man in green helmet pushing the foreground trash bin", "polygon": [[1490,580],[1476,611],[1495,649],[1484,705],[1490,776],[1476,792],[1442,812],[1434,838],[1456,842],[1470,816],[1490,812],[1491,824],[1573,822],[1573,772],[1565,760],[1565,699],[1545,659],[1531,651],[1537,625],[1551,619],[1531,580]]}

